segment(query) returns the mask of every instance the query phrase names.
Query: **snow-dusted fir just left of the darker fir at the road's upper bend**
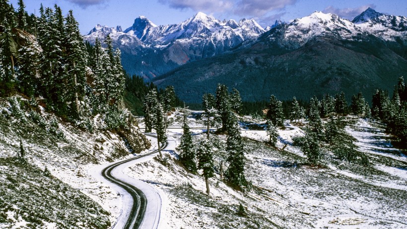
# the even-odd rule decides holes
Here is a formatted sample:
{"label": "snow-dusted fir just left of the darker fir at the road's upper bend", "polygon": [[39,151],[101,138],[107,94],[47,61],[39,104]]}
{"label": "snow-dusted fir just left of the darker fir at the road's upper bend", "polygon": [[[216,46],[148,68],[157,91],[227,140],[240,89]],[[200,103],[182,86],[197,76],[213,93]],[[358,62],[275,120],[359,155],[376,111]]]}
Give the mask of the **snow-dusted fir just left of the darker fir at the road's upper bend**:
{"label": "snow-dusted fir just left of the darker fir at the road's upper bend", "polygon": [[157,90],[152,88],[147,95],[144,97],[143,102],[143,111],[144,111],[144,125],[145,125],[145,132],[151,132],[155,120],[156,120],[156,112],[155,107],[157,107],[158,99],[157,99]]}

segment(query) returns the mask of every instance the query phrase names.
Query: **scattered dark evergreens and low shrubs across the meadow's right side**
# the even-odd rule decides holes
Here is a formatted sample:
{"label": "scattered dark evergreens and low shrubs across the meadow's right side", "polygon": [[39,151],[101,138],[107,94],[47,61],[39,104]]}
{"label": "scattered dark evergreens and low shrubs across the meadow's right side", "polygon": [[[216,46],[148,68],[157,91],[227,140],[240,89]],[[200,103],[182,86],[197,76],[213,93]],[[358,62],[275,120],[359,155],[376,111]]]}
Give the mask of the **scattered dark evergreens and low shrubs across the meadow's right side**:
{"label": "scattered dark evergreens and low shrubs across the meadow's right side", "polygon": [[[293,99],[291,113],[298,110],[295,98]],[[270,109],[270,108],[269,108]],[[351,105],[348,107],[343,92],[337,96],[324,96],[320,101],[311,98],[308,107],[308,126],[305,128],[305,137],[296,138],[294,143],[301,146],[310,163],[318,164],[322,157],[322,145],[326,145],[340,159],[367,164],[367,156],[358,152],[354,139],[344,131],[345,122],[342,116],[353,114],[363,118],[374,118],[386,125],[386,131],[395,137],[394,144],[406,147],[407,142],[407,89],[404,78],[400,77],[393,96],[377,89],[372,97],[372,108],[363,97],[362,93],[352,96]],[[272,112],[279,117],[279,112]],[[323,125],[321,118],[330,117]],[[295,120],[295,118],[292,118]],[[277,118],[278,120],[278,118]]]}

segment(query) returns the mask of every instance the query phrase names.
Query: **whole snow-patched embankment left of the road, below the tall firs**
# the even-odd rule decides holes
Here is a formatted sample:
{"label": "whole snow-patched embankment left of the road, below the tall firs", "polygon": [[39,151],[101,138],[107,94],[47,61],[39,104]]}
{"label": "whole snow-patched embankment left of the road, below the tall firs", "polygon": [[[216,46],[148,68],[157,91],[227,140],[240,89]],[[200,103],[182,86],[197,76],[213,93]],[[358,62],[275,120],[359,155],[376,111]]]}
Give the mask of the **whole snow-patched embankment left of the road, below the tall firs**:
{"label": "whole snow-patched embankment left of the road, below the tall firs", "polygon": [[[99,129],[96,119],[89,123],[88,130],[78,128],[46,112],[41,100],[36,102],[21,96],[0,100],[0,158],[4,162],[0,184],[1,190],[6,193],[5,202],[1,202],[4,204],[0,205],[0,223],[5,223],[4,227],[18,225],[18,222],[41,227],[43,221],[78,228],[113,225],[120,215],[121,196],[98,182],[87,169],[123,158],[129,155],[129,149],[138,153],[149,147],[149,141],[134,126],[128,131],[107,131]],[[26,174],[24,167],[14,159],[20,151],[20,140],[25,151],[24,166],[30,167]],[[42,174],[41,170],[45,167],[52,178]],[[22,177],[15,178],[18,174]],[[40,192],[38,185],[48,188]],[[24,190],[32,193],[32,197],[20,202],[22,197],[19,193],[25,195]],[[54,196],[57,200],[53,199]],[[41,208],[31,205],[33,200],[42,203]],[[9,203],[17,202],[19,204],[11,204],[9,208]],[[88,207],[81,208],[82,202]],[[14,215],[7,215],[10,211]],[[36,217],[24,215],[31,212]],[[88,223],[83,221],[86,224],[76,225],[75,222],[82,217],[89,219]]]}

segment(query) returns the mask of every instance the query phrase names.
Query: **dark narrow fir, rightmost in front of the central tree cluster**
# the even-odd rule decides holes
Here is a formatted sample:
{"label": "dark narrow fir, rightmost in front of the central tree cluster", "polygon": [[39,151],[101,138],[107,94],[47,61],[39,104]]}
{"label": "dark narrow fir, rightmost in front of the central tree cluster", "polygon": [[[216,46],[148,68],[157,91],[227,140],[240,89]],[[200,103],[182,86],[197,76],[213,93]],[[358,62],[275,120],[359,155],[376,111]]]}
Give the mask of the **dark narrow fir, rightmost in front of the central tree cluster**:
{"label": "dark narrow fir, rightmost in front of the central tree cluster", "polygon": [[226,152],[229,167],[225,172],[225,178],[236,186],[245,186],[247,184],[244,175],[245,156],[242,137],[240,136],[237,117],[229,111],[228,117],[228,135],[226,140]]}

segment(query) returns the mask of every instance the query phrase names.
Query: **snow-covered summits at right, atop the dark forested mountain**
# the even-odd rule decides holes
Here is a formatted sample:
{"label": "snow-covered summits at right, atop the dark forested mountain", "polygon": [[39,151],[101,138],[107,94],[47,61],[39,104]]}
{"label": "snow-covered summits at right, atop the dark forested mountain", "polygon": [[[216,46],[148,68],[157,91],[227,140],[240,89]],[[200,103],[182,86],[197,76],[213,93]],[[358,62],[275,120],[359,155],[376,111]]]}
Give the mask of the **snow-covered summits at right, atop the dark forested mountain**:
{"label": "snow-covered summits at right, atop the dark forested mountain", "polygon": [[[339,40],[360,40],[361,36],[374,35],[385,41],[406,39],[407,18],[378,13],[368,8],[352,21],[336,14],[316,11],[309,16],[297,18],[281,28],[282,43],[288,48],[298,48],[316,37],[335,38]],[[277,31],[280,29],[277,29]],[[275,33],[275,34],[274,34]],[[270,34],[276,39],[277,34]]]}

